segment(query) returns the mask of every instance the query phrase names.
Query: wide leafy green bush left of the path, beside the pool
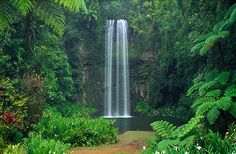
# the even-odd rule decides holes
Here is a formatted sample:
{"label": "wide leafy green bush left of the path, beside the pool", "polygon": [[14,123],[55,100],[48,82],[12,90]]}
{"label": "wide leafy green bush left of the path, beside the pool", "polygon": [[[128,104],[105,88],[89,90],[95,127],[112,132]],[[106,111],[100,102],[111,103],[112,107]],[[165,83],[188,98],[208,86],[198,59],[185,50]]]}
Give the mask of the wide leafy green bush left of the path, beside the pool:
{"label": "wide leafy green bush left of the path, beside the pool", "polygon": [[62,117],[47,110],[35,127],[44,138],[60,140],[72,146],[95,146],[117,142],[117,129],[106,119]]}

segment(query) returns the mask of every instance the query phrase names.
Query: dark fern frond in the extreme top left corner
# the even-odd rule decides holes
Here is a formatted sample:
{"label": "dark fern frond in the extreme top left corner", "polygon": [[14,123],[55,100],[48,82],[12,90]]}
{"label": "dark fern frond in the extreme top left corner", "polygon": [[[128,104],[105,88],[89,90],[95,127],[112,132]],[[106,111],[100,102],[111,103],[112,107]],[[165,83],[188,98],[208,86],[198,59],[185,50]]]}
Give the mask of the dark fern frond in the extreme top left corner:
{"label": "dark fern frond in the extreme top left corner", "polygon": [[15,14],[9,1],[0,1],[0,30],[8,27],[13,22]]}

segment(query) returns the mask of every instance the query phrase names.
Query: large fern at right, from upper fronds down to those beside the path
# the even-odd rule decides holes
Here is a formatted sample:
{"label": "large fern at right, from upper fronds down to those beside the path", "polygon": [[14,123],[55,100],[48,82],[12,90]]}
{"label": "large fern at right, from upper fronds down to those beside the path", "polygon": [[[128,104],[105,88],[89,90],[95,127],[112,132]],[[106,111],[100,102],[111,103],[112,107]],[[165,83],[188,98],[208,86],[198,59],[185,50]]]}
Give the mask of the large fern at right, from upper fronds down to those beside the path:
{"label": "large fern at right, from upper fronds down to those beside the path", "polygon": [[[211,74],[211,75],[209,75]],[[195,83],[187,92],[187,96],[196,99],[192,104],[195,116],[187,124],[176,127],[167,121],[156,121],[151,124],[153,130],[161,137],[157,144],[159,150],[166,150],[178,146],[191,147],[195,144],[195,135],[192,131],[203,120],[213,124],[221,112],[229,112],[236,118],[236,75],[235,71],[224,71],[216,75],[208,72],[205,79]],[[209,76],[211,76],[209,78]]]}

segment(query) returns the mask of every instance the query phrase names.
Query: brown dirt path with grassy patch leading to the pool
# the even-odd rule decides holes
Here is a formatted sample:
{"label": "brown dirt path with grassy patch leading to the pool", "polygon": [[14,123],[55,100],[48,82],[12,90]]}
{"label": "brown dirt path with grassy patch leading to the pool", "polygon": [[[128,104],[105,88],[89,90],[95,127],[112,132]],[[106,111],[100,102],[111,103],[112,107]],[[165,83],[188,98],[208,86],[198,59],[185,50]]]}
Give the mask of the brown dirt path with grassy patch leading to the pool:
{"label": "brown dirt path with grassy patch leading to the pool", "polygon": [[138,154],[148,139],[155,137],[151,131],[127,131],[119,136],[119,142],[93,148],[74,148],[70,154]]}

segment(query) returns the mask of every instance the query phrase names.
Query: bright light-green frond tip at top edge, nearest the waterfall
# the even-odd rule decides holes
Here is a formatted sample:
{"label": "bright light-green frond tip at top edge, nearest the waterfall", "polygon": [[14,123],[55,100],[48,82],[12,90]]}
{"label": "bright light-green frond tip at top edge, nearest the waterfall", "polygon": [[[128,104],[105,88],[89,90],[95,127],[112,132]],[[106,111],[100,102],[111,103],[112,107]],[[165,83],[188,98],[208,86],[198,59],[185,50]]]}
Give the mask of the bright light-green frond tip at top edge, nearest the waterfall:
{"label": "bright light-green frond tip at top edge, nearest the waterfall", "polygon": [[73,12],[87,11],[84,0],[55,0],[55,2]]}

